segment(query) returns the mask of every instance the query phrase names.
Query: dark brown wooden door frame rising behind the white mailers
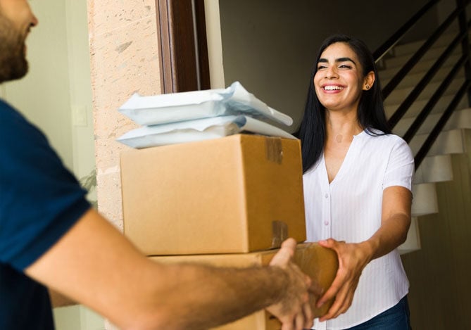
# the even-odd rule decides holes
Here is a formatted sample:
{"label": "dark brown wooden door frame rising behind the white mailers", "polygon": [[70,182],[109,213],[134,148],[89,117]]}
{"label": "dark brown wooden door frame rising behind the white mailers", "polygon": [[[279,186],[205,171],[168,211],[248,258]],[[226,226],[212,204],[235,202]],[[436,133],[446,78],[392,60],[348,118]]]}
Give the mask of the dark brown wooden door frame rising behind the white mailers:
{"label": "dark brown wooden door frame rising behind the white mailers", "polygon": [[156,0],[161,92],[210,89],[204,0]]}

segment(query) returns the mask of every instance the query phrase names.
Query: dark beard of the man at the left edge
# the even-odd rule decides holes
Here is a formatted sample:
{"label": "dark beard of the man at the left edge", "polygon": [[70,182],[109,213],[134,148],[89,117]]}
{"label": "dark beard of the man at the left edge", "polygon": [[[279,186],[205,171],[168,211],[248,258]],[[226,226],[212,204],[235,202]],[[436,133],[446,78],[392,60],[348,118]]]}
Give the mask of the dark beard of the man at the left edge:
{"label": "dark beard of the man at the left edge", "polygon": [[25,37],[0,13],[0,82],[20,79],[27,70]]}

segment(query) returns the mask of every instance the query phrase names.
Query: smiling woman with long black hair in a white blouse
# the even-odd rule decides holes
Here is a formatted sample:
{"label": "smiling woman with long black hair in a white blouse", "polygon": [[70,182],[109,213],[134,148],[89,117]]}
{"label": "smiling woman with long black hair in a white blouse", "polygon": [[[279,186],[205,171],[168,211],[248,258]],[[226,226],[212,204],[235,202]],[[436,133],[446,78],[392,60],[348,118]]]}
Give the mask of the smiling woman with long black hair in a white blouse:
{"label": "smiling woman with long black hair in a white blouse", "polygon": [[375,62],[359,39],[334,34],[320,46],[299,135],[308,241],[335,250],[340,265],[318,302],[334,304],[315,329],[408,330],[396,248],[410,226],[414,160],[387,127]]}

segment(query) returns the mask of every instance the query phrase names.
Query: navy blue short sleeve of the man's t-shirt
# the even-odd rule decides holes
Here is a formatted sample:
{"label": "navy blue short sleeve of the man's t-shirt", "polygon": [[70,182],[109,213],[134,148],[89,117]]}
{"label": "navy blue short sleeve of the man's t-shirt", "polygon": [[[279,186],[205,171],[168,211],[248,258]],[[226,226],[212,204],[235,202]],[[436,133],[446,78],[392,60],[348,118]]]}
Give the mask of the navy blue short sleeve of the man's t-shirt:
{"label": "navy blue short sleeve of the man's t-shirt", "polygon": [[0,262],[23,270],[90,205],[44,134],[15,110],[0,112]]}

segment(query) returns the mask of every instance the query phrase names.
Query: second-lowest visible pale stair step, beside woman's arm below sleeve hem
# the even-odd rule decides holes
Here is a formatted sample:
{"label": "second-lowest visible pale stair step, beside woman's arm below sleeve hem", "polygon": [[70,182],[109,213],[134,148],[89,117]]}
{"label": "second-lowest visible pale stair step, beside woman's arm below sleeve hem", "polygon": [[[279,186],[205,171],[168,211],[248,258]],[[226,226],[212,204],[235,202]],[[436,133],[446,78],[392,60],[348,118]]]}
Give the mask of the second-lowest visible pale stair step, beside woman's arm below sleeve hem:
{"label": "second-lowest visible pale stair step, beside woman's arm below sleeve hem", "polygon": [[413,184],[412,216],[438,213],[437,190],[433,182]]}

